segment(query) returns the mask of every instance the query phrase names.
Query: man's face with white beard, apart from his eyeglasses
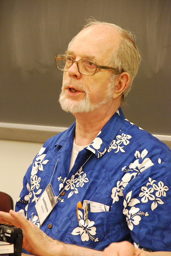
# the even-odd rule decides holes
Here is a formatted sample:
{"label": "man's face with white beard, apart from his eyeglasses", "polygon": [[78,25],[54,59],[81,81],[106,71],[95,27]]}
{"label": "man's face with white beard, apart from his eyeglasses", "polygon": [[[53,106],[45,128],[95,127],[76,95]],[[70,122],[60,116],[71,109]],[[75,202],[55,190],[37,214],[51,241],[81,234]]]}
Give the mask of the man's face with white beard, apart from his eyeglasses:
{"label": "man's face with white beard, apart from his eyeglasses", "polygon": [[[115,40],[113,34],[116,34]],[[111,52],[117,49],[119,41],[113,28],[95,25],[81,31],[66,54],[76,61],[90,59],[105,66]],[[63,75],[59,100],[62,109],[71,113],[82,113],[111,105],[113,89],[110,77],[111,71],[104,69],[97,69],[93,76],[82,75],[74,63]]]}

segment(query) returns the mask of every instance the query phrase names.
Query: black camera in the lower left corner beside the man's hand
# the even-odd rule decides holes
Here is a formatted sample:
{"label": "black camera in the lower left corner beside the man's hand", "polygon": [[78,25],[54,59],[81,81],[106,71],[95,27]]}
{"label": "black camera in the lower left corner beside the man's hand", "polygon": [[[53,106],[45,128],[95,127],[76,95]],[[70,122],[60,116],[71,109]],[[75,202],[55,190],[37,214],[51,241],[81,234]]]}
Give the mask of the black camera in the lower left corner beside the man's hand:
{"label": "black camera in the lower left corner beside the man's hand", "polygon": [[13,225],[0,223],[0,241],[13,243],[14,253],[11,255],[21,256],[23,245],[22,230]]}

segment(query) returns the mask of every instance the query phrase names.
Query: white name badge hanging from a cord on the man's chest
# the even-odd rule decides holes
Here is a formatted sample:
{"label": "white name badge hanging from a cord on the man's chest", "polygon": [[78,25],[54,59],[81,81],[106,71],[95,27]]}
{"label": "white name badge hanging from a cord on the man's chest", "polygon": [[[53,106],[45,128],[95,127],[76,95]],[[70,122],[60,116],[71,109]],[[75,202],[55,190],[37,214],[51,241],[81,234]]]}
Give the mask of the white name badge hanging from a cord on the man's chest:
{"label": "white name badge hanging from a cord on the man's chest", "polygon": [[51,213],[57,202],[57,197],[53,193],[52,185],[49,183],[35,205],[40,226]]}

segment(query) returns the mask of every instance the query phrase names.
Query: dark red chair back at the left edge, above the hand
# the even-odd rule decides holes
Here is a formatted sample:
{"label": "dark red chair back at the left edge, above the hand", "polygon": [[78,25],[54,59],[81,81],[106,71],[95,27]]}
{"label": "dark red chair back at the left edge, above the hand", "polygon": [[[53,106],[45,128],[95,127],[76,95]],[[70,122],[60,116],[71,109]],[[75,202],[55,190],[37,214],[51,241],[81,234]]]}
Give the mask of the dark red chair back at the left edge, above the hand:
{"label": "dark red chair back at the left edge, above the hand", "polygon": [[9,212],[9,210],[14,209],[14,203],[10,195],[0,192],[0,211]]}

